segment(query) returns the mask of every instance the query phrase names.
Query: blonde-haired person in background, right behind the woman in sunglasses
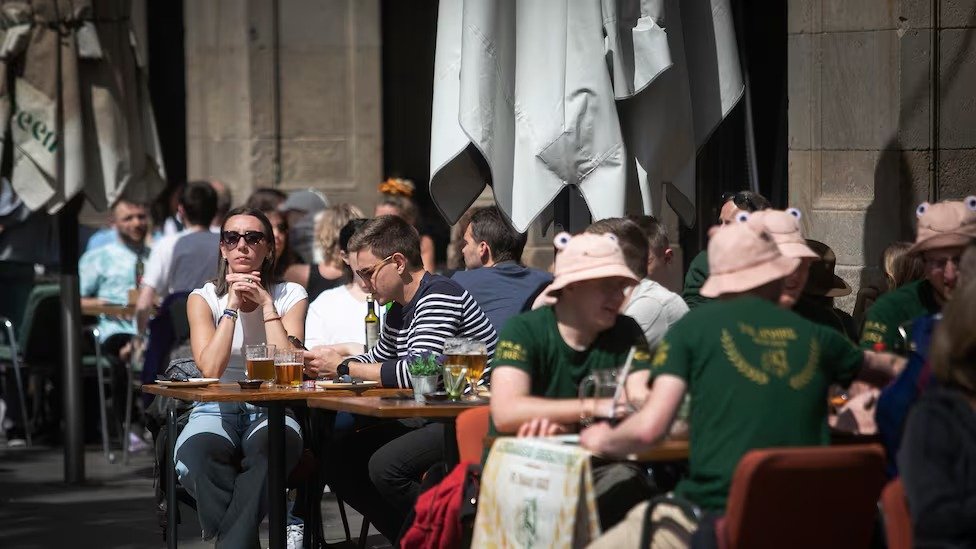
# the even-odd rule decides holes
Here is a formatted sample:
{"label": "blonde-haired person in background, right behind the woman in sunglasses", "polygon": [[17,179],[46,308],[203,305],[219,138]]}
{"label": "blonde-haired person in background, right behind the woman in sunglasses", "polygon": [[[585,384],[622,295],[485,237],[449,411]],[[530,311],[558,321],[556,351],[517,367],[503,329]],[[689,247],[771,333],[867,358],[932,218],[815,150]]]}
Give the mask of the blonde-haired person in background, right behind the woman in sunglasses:
{"label": "blonde-haired person in background, right behind the woman in sunglasses", "polygon": [[339,231],[346,223],[362,217],[365,217],[362,210],[352,204],[336,204],[322,210],[315,218],[315,240],[322,253],[322,262],[292,265],[285,273],[285,280],[305,286],[310,301],[315,301],[326,290],[351,282],[352,272],[342,261],[339,249]]}

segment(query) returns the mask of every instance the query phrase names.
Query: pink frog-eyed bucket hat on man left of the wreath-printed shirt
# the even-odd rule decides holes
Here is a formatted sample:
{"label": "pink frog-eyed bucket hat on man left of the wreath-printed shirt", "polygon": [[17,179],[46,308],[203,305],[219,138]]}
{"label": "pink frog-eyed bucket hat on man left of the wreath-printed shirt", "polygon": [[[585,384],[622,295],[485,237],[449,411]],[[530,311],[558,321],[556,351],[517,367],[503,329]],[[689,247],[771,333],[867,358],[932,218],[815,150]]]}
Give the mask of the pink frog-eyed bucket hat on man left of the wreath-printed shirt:
{"label": "pink frog-eyed bucket hat on man left of the wreath-printed shirt", "polygon": [[556,246],[555,278],[552,284],[536,298],[533,309],[556,302],[553,292],[574,282],[597,278],[620,277],[640,282],[640,278],[627,267],[624,254],[612,234],[583,233],[573,236],[562,232],[553,240]]}

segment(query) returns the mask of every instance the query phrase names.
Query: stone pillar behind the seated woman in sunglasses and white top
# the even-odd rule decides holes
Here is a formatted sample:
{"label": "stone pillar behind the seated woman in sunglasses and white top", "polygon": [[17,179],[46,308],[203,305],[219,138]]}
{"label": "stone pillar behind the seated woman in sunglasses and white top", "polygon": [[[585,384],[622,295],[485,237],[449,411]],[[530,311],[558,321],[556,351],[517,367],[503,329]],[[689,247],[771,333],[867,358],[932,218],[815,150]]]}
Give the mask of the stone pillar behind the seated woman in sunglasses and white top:
{"label": "stone pillar behind the seated woman in sunglasses and white top", "polygon": [[228,183],[235,205],[257,187],[311,187],[372,211],[379,9],[378,0],[185,2],[189,178]]}

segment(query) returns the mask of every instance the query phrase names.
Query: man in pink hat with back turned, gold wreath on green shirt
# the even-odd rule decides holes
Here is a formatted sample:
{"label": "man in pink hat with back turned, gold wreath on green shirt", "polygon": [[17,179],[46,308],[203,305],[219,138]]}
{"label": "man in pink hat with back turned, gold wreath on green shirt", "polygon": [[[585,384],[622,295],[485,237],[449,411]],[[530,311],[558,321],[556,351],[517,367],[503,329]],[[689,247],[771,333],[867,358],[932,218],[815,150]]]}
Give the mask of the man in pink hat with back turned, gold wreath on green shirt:
{"label": "man in pink hat with back turned, gold wreath on green shirt", "polygon": [[[887,382],[896,372],[885,357],[866,358],[836,331],[777,306],[800,260],[783,256],[769,233],[733,224],[715,231],[708,251],[711,275],[702,295],[718,300],[688,313],[665,336],[640,411],[615,428],[588,427],[581,443],[605,456],[640,452],[667,434],[687,392],[690,476],[676,494],[698,511],[722,513],[733,472],[749,450],[829,442],[828,385],[859,375]],[[629,546],[646,506],[591,547]],[[691,520],[678,537],[689,543],[696,528]]]}

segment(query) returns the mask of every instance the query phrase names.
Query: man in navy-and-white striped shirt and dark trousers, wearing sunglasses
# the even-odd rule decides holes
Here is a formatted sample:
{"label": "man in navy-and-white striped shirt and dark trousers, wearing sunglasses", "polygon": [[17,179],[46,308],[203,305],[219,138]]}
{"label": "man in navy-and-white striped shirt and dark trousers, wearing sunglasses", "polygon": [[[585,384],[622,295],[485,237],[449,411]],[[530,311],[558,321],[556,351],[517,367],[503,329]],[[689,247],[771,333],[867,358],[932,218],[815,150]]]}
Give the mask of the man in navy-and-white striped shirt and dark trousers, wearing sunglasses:
{"label": "man in navy-and-white striped shirt and dark trousers, wearing sunglasses", "polygon": [[[384,387],[410,387],[406,358],[411,352],[441,354],[446,338],[470,337],[486,343],[489,357],[494,353],[497,336],[488,317],[456,282],[424,270],[420,237],[399,217],[381,216],[363,225],[349,241],[349,262],[380,305],[393,306],[373,349],[343,358],[335,348],[316,347],[306,353],[310,375],[349,374]],[[443,459],[443,426],[384,422],[355,432],[337,450],[328,455],[329,485],[396,543],[421,477]]]}

